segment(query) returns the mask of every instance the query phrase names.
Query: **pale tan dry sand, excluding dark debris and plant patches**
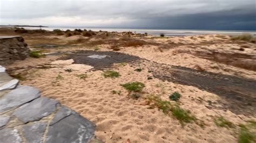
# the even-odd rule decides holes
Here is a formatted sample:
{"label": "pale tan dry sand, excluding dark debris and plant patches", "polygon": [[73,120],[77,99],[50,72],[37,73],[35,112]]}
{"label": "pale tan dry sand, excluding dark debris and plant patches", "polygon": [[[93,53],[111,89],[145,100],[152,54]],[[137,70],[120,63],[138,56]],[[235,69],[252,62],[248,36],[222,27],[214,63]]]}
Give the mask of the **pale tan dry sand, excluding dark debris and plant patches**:
{"label": "pale tan dry sand, excluding dark debris and plant patches", "polygon": [[[220,39],[215,37],[215,35],[204,37],[206,41]],[[170,41],[176,43],[183,42],[183,44],[197,44],[202,41],[199,36],[196,39],[193,40],[191,37],[174,37],[153,40],[162,44]],[[235,47],[237,45],[232,44],[230,46]],[[106,45],[99,46],[100,51],[109,51],[106,47]],[[122,48],[120,52],[137,55],[140,58],[157,63],[194,69],[198,69],[199,66],[212,73],[256,79],[255,71],[224,65],[201,59],[191,54],[177,52],[184,49],[188,51],[192,49],[202,51],[210,49],[223,50],[220,47],[223,47],[223,45],[216,44],[192,48],[183,45],[176,48],[163,49],[163,52],[160,52],[156,46],[143,46]],[[84,48],[65,48],[58,51],[71,51],[73,49]],[[228,51],[230,49],[225,50]],[[57,50],[51,50],[51,52],[54,51]],[[246,52],[255,54],[253,50],[246,50]],[[51,68],[42,68],[42,66],[41,68],[30,68],[26,71],[26,80],[21,83],[40,89],[42,96],[55,98],[91,120],[97,125],[96,136],[105,142],[126,142],[127,139],[130,139],[131,142],[236,142],[237,134],[232,129],[217,127],[213,121],[214,117],[224,116],[237,125],[245,123],[246,120],[255,120],[255,115],[235,115],[229,110],[208,109],[207,101],[212,101],[215,106],[222,106],[217,102],[220,97],[210,92],[193,86],[164,82],[157,78],[147,80],[147,77],[152,76],[151,73],[148,73],[147,68],[137,72],[134,69],[140,67],[134,67],[130,64],[126,66],[115,64],[112,69],[118,71],[121,76],[118,78],[105,78],[101,70],[91,71],[91,66],[89,65],[71,65],[72,62],[70,61],[57,61],[56,59],[59,57],[46,56],[46,58],[36,60],[28,58],[25,61],[15,62],[7,68],[23,67],[26,69],[26,67],[38,65],[50,66]],[[72,68],[73,71],[68,73],[64,70],[66,68]],[[17,73],[22,71],[24,70],[16,70]],[[77,76],[80,74],[86,74],[87,77],[81,79]],[[182,95],[179,102],[181,107],[190,110],[192,115],[203,120],[205,127],[201,128],[195,123],[186,124],[183,127],[177,119],[166,116],[161,110],[148,109],[149,106],[143,105],[145,99],[139,98],[136,100],[131,98],[128,96],[129,92],[120,84],[134,81],[145,83],[143,95],[154,94],[161,96],[162,99],[169,100],[170,94],[175,91],[180,92]],[[112,90],[120,91],[120,95],[112,94]]]}

